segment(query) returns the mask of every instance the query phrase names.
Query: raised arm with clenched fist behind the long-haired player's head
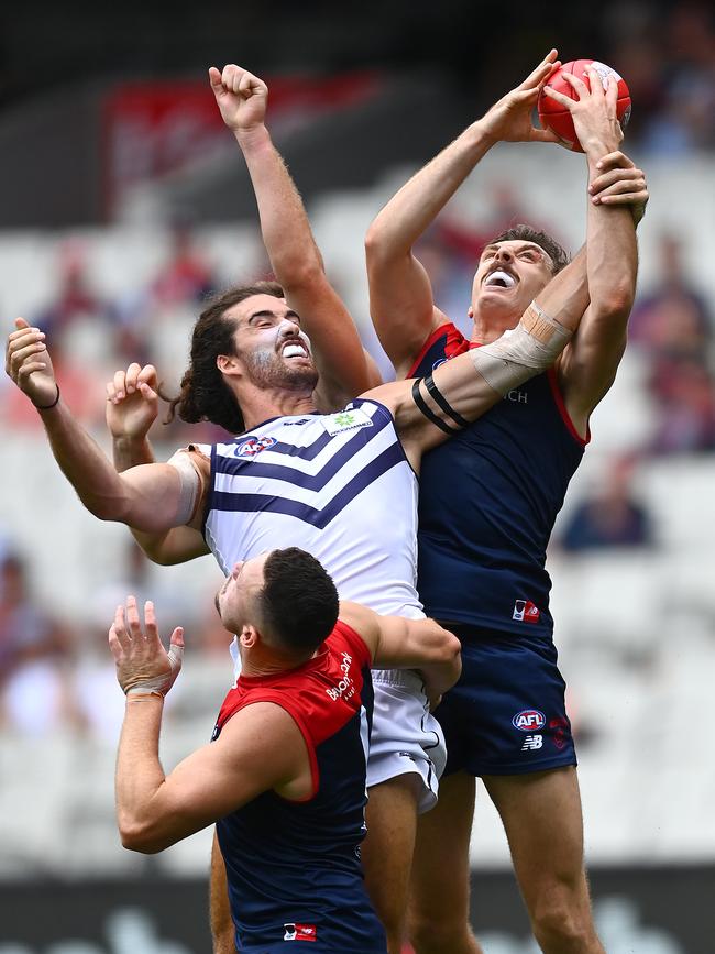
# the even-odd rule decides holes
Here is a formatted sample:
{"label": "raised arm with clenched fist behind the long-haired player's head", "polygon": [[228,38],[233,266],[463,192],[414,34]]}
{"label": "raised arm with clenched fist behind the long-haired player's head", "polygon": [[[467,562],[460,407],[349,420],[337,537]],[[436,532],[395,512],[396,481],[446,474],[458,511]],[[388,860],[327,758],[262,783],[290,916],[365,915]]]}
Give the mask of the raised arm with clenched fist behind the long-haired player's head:
{"label": "raised arm with clenched fist behind the long-haired player's head", "polygon": [[223,72],[212,66],[209,78],[223,121],[249,167],[276,281],[311,339],[320,372],[318,398],[326,409],[341,407],[378,384],[381,377],[350,312],[328,281],[302,200],[265,127],[268,88],[234,64]]}

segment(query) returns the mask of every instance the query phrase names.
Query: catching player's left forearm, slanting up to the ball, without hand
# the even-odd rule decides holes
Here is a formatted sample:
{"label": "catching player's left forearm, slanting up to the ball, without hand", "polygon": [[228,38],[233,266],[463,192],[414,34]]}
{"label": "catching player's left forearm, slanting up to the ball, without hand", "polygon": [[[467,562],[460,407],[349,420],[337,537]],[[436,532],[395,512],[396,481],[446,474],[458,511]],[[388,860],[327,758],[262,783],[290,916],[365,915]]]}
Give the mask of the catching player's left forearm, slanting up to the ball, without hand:
{"label": "catching player's left forearm, slanting up to the ball, without hand", "polygon": [[369,254],[408,253],[493,145],[479,121],[468,127],[377,215],[366,238]]}

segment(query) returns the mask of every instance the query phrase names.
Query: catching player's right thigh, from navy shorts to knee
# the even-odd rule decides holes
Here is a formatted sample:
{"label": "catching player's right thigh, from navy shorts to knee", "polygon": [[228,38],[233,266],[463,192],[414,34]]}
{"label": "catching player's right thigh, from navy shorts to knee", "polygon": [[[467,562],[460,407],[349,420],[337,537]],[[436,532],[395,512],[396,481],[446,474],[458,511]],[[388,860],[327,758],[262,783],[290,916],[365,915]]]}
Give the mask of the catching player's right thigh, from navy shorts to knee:
{"label": "catching player's right thigh, from navy shorts to knee", "polygon": [[588,906],[583,868],[583,816],[574,767],[518,776],[485,776],[509,842],[514,870],[534,915],[549,895]]}

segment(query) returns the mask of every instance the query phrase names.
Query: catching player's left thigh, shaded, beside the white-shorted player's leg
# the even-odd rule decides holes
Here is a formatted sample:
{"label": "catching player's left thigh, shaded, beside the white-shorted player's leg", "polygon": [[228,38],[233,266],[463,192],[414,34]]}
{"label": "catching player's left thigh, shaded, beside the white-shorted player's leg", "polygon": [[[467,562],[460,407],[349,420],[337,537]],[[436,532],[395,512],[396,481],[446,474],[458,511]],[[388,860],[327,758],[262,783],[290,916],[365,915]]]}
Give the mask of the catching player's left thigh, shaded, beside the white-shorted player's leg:
{"label": "catching player's left thigh, shaded, beside the white-shorted player's leg", "polygon": [[455,772],[440,782],[437,805],[417,824],[409,920],[466,924],[470,904],[470,836],[475,779]]}

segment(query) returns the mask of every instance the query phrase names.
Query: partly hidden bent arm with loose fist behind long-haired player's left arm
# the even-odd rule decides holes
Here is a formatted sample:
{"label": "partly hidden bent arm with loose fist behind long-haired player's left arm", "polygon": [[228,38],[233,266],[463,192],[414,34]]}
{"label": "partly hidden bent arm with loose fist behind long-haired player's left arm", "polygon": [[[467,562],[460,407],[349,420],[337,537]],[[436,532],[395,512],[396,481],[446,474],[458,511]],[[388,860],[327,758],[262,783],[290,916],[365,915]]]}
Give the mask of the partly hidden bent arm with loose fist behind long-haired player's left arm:
{"label": "partly hidden bent arm with loose fist behind long-haired player's left arm", "polygon": [[[136,362],[120,370],[107,384],[107,426],[112,436],[114,469],[123,473],[140,464],[155,463],[148,430],[156,420],[158,392],[156,369]],[[172,527],[156,534],[133,528],[134,539],[150,560],[164,567],[183,563],[209,552],[199,530]]]}

